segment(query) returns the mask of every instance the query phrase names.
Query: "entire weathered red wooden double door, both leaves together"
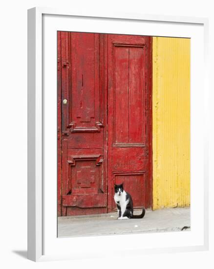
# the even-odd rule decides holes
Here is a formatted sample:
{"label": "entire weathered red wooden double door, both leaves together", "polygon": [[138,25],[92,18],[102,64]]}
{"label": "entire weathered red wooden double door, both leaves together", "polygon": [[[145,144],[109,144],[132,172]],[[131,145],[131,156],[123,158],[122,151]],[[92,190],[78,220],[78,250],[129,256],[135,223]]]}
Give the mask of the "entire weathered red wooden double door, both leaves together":
{"label": "entire weathered red wooden double door, both leaves together", "polygon": [[151,206],[150,42],[58,32],[58,215],[112,211],[120,182]]}

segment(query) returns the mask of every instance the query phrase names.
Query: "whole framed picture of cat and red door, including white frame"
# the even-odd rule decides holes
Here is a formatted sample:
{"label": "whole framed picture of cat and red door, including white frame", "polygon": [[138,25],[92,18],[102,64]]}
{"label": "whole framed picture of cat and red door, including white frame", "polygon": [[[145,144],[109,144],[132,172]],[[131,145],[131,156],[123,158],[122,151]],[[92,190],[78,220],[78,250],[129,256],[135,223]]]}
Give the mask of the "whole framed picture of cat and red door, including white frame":
{"label": "whole framed picture of cat and red door, including white frame", "polygon": [[207,32],[28,10],[30,260],[208,249]]}

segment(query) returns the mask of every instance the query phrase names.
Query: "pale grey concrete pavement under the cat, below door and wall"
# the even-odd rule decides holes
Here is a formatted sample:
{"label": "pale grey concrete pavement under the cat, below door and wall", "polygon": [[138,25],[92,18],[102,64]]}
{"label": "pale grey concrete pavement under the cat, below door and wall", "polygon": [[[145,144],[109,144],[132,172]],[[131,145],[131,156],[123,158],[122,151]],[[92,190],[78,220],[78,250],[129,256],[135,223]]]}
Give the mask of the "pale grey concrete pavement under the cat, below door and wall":
{"label": "pale grey concrete pavement under the cat, below door and wall", "polygon": [[[134,211],[140,214],[141,211]],[[143,219],[117,220],[117,213],[58,218],[58,237],[180,231],[190,226],[190,208],[147,210]],[[184,230],[190,230],[185,228]]]}

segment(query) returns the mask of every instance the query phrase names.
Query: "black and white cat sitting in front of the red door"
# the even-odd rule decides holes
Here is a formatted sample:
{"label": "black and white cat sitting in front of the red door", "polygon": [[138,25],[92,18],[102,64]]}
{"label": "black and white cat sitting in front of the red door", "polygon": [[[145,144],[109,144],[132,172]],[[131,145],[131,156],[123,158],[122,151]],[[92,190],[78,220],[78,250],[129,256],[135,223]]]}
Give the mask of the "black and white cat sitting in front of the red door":
{"label": "black and white cat sitting in front of the red door", "polygon": [[145,215],[145,208],[140,215],[133,215],[133,201],[128,192],[125,192],[123,184],[114,184],[114,201],[117,205],[118,220],[142,219]]}

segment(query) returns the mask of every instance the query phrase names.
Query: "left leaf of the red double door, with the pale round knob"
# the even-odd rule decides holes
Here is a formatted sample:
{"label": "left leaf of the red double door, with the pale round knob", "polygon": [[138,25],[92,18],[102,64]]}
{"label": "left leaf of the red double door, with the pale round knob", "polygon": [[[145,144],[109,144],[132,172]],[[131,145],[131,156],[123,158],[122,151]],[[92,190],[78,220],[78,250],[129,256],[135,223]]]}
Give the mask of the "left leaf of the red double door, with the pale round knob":
{"label": "left leaf of the red double door, with the pale round knob", "polygon": [[107,212],[102,43],[100,34],[61,32],[63,216]]}

